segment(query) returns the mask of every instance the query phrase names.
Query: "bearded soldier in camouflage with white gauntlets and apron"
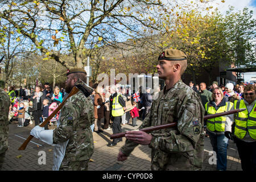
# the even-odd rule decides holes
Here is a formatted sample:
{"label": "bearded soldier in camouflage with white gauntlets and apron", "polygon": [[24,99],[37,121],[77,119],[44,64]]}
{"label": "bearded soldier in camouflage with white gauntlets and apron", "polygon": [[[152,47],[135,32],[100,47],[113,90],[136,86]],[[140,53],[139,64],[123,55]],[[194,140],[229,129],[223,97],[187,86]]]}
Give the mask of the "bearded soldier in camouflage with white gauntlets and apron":
{"label": "bearded soldier in camouflage with white gauntlets and apron", "polygon": [[93,89],[85,84],[86,72],[75,68],[67,73],[66,91],[73,86],[79,92],[65,102],[60,111],[55,130],[44,130],[36,126],[31,135],[46,142],[55,144],[53,170],[87,170],[90,156],[93,154],[93,134],[90,125],[94,122],[93,103],[89,95]]}

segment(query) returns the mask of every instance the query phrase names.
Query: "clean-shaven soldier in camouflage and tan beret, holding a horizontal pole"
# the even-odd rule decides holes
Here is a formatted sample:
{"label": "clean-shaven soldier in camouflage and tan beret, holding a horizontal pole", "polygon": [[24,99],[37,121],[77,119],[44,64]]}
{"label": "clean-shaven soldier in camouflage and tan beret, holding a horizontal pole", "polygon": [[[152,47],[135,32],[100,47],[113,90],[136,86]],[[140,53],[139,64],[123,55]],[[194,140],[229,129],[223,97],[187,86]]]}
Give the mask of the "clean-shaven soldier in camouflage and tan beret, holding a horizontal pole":
{"label": "clean-shaven soldier in camouflage and tan beret, holding a horizontal pole", "polygon": [[200,170],[204,154],[204,107],[200,97],[181,81],[187,67],[187,56],[175,49],[166,49],[159,56],[159,77],[166,86],[152,102],[140,129],[177,122],[176,127],[151,131],[127,131],[125,145],[118,160],[123,161],[138,144],[147,144],[151,151],[151,170]]}

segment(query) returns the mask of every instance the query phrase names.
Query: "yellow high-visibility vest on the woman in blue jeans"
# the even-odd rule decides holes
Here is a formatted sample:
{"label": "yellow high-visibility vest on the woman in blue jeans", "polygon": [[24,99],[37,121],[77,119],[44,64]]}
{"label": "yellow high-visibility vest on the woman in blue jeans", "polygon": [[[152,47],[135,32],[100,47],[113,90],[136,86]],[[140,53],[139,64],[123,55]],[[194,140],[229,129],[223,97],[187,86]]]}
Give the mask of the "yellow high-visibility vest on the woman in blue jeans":
{"label": "yellow high-visibility vest on the woman in blue jeans", "polygon": [[[221,106],[216,111],[215,107],[210,105],[210,102],[207,102],[205,104],[205,110],[207,111],[207,114],[217,114],[217,113],[223,113],[225,111],[230,111],[232,108],[233,103],[232,102],[226,102],[225,106]],[[212,118],[207,120],[207,129],[210,131],[218,131],[218,132],[224,132],[225,131],[225,122],[226,122],[226,115]]]}

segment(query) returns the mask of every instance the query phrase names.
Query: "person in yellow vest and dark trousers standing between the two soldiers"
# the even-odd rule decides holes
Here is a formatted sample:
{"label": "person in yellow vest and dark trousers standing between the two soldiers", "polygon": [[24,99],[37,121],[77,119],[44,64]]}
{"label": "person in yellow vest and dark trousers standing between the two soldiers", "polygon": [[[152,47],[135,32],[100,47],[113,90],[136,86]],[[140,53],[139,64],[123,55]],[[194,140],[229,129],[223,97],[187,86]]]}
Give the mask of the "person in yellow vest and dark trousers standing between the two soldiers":
{"label": "person in yellow vest and dark trousers standing between the two soldiers", "polygon": [[[125,101],[123,100],[121,93],[119,93],[119,89],[115,85],[110,86],[110,93],[112,94],[109,97],[110,101],[110,115],[112,116],[113,121],[113,134],[121,133],[121,118],[124,113],[125,108]],[[117,145],[117,142],[121,142],[122,138],[115,138],[113,139],[112,143],[107,144],[108,147],[113,147]]]}

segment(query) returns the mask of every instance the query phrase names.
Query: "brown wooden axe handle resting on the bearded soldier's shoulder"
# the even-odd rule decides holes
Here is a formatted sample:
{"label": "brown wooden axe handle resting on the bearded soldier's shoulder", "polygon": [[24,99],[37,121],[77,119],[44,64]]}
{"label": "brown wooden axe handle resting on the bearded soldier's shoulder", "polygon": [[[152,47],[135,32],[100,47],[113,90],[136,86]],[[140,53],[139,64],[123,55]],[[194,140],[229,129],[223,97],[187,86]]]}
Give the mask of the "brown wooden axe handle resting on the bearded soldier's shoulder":
{"label": "brown wooden axe handle resting on the bearded soldier's shoulder", "polygon": [[[65,100],[63,102],[61,102],[61,104],[52,112],[51,115],[49,115],[49,117],[44,120],[43,123],[41,123],[41,125],[39,125],[40,127],[44,127],[47,125],[47,123],[57,114],[57,112],[63,107],[63,105],[65,104],[65,101],[67,101],[67,99],[73,95],[75,95],[77,92],[79,92],[79,89],[74,86],[71,90],[71,92],[68,94],[68,97],[65,98]],[[18,150],[25,150],[27,147],[28,142],[30,142],[30,140],[33,138],[32,135],[29,135],[28,138],[25,140],[25,142],[23,142],[23,144],[19,147]]]}

